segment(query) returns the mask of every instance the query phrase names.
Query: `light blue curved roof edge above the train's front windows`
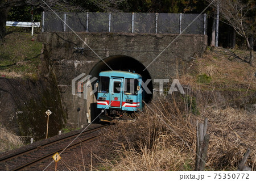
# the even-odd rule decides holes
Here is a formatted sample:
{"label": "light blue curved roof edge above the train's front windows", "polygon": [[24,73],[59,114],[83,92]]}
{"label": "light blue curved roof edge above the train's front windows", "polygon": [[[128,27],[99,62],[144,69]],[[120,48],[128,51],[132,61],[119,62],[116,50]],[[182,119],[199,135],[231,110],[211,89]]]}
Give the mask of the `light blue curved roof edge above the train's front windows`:
{"label": "light blue curved roof edge above the train's front windows", "polygon": [[106,77],[141,78],[141,74],[121,70],[101,71],[99,75]]}

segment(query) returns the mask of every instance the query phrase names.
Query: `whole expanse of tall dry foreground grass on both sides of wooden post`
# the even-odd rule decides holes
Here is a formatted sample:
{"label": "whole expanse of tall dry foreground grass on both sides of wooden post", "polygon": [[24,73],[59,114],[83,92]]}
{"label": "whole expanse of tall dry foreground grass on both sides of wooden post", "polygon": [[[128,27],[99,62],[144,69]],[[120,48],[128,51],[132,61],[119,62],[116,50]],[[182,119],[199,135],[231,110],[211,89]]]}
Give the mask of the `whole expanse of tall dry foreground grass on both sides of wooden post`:
{"label": "whole expanse of tall dry foreground grass on both sides of wooden post", "polygon": [[106,159],[101,159],[100,170],[193,170],[196,121],[204,117],[210,134],[206,170],[236,170],[247,148],[252,152],[246,164],[256,170],[255,115],[233,108],[193,115],[178,99],[153,102],[135,122],[108,129],[101,139]]}

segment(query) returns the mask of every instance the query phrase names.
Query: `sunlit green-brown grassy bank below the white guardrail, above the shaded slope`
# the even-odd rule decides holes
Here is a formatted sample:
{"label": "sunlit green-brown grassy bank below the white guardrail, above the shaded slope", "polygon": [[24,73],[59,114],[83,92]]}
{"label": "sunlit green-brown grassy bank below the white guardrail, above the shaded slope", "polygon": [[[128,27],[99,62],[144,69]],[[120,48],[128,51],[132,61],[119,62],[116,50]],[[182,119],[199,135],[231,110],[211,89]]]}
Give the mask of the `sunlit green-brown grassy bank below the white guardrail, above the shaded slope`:
{"label": "sunlit green-brown grassy bank below the white guardrail, above the shaded slope", "polygon": [[0,77],[38,78],[43,44],[30,33],[13,32],[0,46]]}

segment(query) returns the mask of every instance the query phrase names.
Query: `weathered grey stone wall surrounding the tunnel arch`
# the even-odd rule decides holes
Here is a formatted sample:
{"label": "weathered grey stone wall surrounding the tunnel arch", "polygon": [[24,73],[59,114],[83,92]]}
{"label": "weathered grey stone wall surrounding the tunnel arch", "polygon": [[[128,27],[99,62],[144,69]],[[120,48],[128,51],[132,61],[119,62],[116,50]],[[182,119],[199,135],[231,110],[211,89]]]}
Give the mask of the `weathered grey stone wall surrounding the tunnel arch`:
{"label": "weathered grey stone wall surrounding the tunnel arch", "polygon": [[[86,113],[89,110],[85,99],[72,95],[72,79],[81,73],[88,75],[93,67],[105,58],[129,56],[145,67],[154,61],[147,68],[151,78],[172,80],[189,66],[192,57],[202,56],[207,47],[205,35],[177,37],[178,35],[164,34],[88,32],[78,35],[80,37],[72,32],[45,32],[38,37],[39,41],[44,42],[44,50],[49,54],[63,107],[67,112],[68,121],[72,123],[77,123],[78,107],[81,108],[80,123],[86,123]],[[158,86],[158,83],[153,84],[154,88]],[[93,102],[93,99],[90,101]]]}

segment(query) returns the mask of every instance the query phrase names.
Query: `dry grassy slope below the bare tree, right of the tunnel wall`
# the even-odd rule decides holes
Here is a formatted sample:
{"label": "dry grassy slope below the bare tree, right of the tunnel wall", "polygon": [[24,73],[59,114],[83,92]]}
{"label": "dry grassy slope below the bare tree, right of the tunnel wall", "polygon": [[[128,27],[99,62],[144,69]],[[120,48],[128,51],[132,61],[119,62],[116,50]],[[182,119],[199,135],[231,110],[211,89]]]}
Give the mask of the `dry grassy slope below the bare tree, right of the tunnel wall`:
{"label": "dry grassy slope below the bare tree, right of the tunnel wall", "polygon": [[207,74],[212,77],[212,83],[215,85],[235,87],[251,84],[251,89],[255,90],[255,65],[250,66],[242,60],[230,60],[230,54],[230,51],[225,49],[207,50],[204,58],[199,58],[189,73],[194,76]]}

